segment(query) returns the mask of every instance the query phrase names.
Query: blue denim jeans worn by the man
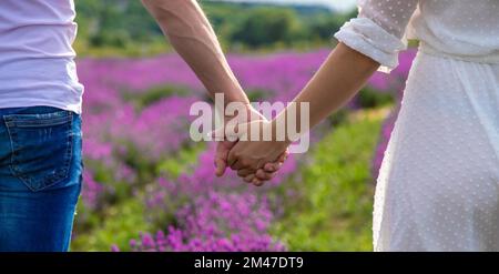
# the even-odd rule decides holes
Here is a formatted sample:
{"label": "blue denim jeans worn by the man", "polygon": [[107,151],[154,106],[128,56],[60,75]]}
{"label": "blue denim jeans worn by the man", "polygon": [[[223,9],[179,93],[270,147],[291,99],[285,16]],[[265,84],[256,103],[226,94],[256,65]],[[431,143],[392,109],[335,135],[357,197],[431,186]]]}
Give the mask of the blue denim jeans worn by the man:
{"label": "blue denim jeans worn by the man", "polygon": [[82,185],[80,115],[0,109],[0,251],[68,251]]}

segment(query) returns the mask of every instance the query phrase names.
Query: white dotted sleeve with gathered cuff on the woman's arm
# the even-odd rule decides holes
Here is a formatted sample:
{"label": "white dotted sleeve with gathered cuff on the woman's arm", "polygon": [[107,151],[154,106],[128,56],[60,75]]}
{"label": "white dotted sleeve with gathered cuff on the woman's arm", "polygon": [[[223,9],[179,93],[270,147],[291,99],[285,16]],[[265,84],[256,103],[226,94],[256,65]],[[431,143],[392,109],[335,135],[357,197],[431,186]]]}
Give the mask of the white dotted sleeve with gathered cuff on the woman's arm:
{"label": "white dotted sleeve with gathered cuff on the woman's arm", "polygon": [[335,38],[381,64],[389,72],[406,49],[403,37],[418,0],[359,1],[359,16],[346,22]]}

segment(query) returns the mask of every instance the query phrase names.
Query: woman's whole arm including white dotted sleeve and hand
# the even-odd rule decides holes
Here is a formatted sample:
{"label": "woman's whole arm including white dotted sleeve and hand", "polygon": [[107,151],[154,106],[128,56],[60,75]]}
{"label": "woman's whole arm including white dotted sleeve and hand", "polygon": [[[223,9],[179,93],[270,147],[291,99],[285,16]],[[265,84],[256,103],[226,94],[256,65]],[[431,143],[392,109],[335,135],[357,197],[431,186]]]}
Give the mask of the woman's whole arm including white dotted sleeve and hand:
{"label": "woman's whole arm including white dotted sleeve and hand", "polygon": [[[359,14],[346,22],[335,34],[339,44],[327,58],[314,79],[295,99],[299,116],[299,103],[309,103],[309,126],[317,124],[325,116],[345,104],[367,81],[367,79],[383,65],[385,71],[398,65],[398,52],[406,48],[403,37],[406,27],[417,10],[420,0],[364,0],[359,1]],[[252,123],[274,130],[278,121],[292,112],[286,109],[272,123]],[[296,119],[297,122],[301,119]],[[242,126],[237,135],[247,134],[248,126]],[[298,128],[302,128],[298,124]],[[304,126],[306,128],[306,126]],[[301,130],[303,133],[306,129]],[[275,133],[275,132],[274,132]],[[275,135],[275,134],[274,134]],[[262,166],[283,148],[285,142],[240,142],[228,155],[232,169],[237,170],[240,176],[249,174],[249,171]],[[265,164],[265,169],[267,165]],[[256,173],[261,175],[258,171]],[[247,175],[245,179],[254,180]],[[261,184],[254,181],[255,184]]]}

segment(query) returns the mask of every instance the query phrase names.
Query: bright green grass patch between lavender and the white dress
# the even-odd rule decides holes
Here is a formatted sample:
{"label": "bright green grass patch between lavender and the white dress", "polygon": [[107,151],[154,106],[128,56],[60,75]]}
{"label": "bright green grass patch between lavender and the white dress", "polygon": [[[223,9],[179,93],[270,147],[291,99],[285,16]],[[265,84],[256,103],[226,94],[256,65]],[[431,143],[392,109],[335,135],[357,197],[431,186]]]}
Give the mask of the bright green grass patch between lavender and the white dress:
{"label": "bright green grass patch between lavender and the white dress", "polygon": [[384,115],[354,116],[314,146],[301,181],[287,185],[297,196],[284,202],[273,234],[291,251],[373,250],[370,162]]}

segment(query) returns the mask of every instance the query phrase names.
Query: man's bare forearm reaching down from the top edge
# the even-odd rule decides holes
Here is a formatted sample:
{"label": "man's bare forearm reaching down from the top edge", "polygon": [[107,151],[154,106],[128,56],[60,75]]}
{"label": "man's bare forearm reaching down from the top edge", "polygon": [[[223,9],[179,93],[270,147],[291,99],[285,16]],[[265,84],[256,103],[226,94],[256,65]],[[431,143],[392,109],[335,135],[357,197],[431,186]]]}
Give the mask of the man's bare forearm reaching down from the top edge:
{"label": "man's bare forearm reaching down from the top edge", "polygon": [[249,103],[196,0],[142,0],[142,3],[212,99],[215,93],[224,93],[225,103]]}

